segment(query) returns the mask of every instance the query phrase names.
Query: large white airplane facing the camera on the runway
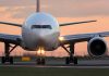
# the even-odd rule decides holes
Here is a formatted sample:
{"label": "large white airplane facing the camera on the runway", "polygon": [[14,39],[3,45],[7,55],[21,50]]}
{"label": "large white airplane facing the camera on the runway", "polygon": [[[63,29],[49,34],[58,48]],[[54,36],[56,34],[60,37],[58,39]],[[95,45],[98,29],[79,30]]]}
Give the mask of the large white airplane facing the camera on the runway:
{"label": "large white airplane facing the camera on the runway", "polygon": [[[13,56],[10,53],[17,47],[22,47],[27,51],[53,51],[59,47],[63,48],[69,56],[65,64],[77,64],[77,58],[74,55],[74,45],[76,42],[87,41],[87,51],[90,56],[102,56],[107,53],[107,45],[104,37],[109,36],[109,31],[77,34],[60,36],[60,27],[92,23],[96,21],[71,22],[59,24],[51,14],[40,12],[39,0],[36,0],[36,12],[31,14],[24,24],[15,24],[9,22],[0,22],[0,24],[17,26],[22,28],[22,35],[0,34],[0,41],[4,43],[4,56],[1,63],[10,62],[13,64]],[[45,64],[45,59],[38,59],[37,63]]]}

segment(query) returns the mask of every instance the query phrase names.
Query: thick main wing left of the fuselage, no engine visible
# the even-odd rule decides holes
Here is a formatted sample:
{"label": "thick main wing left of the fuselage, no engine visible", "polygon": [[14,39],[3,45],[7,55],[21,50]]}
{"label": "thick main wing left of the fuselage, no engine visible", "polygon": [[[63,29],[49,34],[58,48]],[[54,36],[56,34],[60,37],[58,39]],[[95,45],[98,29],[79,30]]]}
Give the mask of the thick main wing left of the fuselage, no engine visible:
{"label": "thick main wing left of the fuselage, no engine visible", "polygon": [[12,45],[21,45],[22,37],[19,35],[7,35],[7,34],[0,34],[0,41],[12,43]]}

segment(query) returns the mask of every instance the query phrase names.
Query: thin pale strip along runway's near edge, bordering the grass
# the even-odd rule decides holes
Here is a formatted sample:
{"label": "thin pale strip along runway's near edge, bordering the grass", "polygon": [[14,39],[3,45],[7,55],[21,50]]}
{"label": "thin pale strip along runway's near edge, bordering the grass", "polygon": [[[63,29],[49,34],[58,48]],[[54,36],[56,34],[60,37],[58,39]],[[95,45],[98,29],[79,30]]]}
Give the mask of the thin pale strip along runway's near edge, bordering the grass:
{"label": "thin pale strip along runway's near edge, bordering the grass", "polygon": [[53,67],[53,68],[109,68],[109,65],[9,65],[9,64],[5,64],[5,65],[0,65],[0,66],[12,66],[12,67],[40,67],[40,68],[50,68],[50,67]]}

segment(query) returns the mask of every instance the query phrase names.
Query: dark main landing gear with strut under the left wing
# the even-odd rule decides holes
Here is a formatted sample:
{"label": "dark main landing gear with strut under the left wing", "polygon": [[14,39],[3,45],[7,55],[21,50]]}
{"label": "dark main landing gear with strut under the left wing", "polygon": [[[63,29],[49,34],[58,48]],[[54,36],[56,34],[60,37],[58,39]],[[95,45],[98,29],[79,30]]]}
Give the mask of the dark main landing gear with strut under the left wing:
{"label": "dark main landing gear with strut under the left wing", "polygon": [[17,46],[12,47],[10,43],[4,43],[4,56],[1,58],[1,63],[4,64],[5,62],[10,62],[13,64],[13,56],[10,56],[10,53],[16,48]]}

